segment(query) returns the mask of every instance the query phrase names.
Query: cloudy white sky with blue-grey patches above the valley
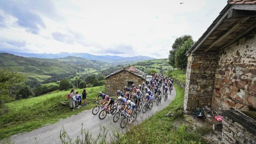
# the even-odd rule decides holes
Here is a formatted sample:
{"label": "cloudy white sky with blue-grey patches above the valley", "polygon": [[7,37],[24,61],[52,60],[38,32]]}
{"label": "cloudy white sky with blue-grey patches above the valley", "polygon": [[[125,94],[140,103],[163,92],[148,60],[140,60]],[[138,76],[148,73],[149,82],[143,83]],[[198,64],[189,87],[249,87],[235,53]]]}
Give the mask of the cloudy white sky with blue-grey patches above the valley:
{"label": "cloudy white sky with blue-grey patches above the valley", "polygon": [[[183,4],[180,4],[183,2]],[[0,0],[0,50],[167,58],[227,0]]]}

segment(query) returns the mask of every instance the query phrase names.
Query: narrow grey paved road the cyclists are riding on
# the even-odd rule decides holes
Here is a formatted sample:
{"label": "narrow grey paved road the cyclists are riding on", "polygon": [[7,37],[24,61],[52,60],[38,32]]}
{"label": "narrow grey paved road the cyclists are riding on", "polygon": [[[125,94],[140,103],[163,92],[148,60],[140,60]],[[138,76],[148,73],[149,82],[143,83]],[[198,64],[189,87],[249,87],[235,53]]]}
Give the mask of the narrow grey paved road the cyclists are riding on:
{"label": "narrow grey paved road the cyclists are riding on", "polygon": [[[137,118],[140,119],[139,121],[141,121],[150,117],[152,114],[165,108],[175,96],[176,89],[174,88],[171,95],[168,96],[166,102],[164,102],[164,99],[162,99],[162,102],[159,103],[158,106],[155,102],[153,108],[146,113],[142,113],[142,110],[138,112]],[[35,144],[35,138],[37,138],[38,144],[59,144],[59,134],[62,126],[67,131],[68,135],[72,139],[75,139],[77,135],[80,135],[81,123],[84,123],[84,128],[88,129],[95,138],[99,134],[100,125],[107,127],[110,125],[109,119],[113,122],[113,115],[108,114],[105,119],[100,120],[98,114],[93,115],[92,109],[89,109],[77,115],[72,115],[71,117],[62,119],[55,124],[47,125],[31,132],[14,135],[11,137],[11,139],[15,142],[15,144]],[[120,120],[115,124],[120,126]]]}

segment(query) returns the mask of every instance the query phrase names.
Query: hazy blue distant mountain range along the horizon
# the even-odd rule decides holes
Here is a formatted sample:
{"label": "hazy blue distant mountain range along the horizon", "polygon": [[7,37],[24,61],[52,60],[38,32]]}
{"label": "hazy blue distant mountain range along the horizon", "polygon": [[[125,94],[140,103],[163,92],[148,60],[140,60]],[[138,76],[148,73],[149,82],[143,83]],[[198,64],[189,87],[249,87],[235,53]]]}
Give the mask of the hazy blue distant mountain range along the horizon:
{"label": "hazy blue distant mountain range along the horizon", "polygon": [[12,51],[0,51],[4,53],[11,53],[17,56],[23,56],[23,57],[34,57],[34,58],[44,58],[44,59],[56,59],[56,58],[63,58],[68,56],[75,56],[75,57],[81,57],[88,60],[97,60],[102,62],[108,62],[112,63],[114,65],[121,65],[121,64],[128,64],[131,62],[136,61],[143,61],[143,60],[152,60],[154,58],[148,57],[148,56],[134,56],[134,57],[121,57],[121,56],[110,56],[110,55],[104,55],[104,56],[96,56],[88,53],[58,53],[58,54],[37,54],[37,53],[20,53],[20,52],[12,52]]}

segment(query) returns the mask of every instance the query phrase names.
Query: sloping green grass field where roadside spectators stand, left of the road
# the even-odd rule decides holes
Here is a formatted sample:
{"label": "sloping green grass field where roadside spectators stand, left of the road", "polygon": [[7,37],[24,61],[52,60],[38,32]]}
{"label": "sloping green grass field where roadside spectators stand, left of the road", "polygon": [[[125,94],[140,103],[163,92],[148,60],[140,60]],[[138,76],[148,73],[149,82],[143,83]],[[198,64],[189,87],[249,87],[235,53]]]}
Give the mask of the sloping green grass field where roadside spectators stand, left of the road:
{"label": "sloping green grass field where roadside spectators stand, left of the road", "polygon": [[[79,91],[81,94],[83,89],[75,91]],[[95,106],[93,101],[99,91],[104,92],[105,86],[87,88],[88,105],[76,109],[75,112],[71,112],[69,108],[67,94],[70,91],[54,91],[39,97],[8,103],[6,106],[9,112],[0,117],[0,139],[16,133],[34,130],[43,125],[55,123],[60,119],[90,109]],[[65,102],[67,105],[63,106],[61,102]]]}

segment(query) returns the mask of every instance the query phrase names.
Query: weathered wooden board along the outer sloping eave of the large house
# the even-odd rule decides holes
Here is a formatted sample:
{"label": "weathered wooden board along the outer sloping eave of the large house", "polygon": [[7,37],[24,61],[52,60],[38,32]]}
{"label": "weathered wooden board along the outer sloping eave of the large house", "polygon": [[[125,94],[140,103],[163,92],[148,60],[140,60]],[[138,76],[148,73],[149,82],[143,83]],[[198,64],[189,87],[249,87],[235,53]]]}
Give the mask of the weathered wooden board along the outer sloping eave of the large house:
{"label": "weathered wooden board along the outer sloping eave of the large house", "polygon": [[[206,34],[206,36],[202,40],[200,40],[200,42],[196,45],[196,47],[190,53],[195,52],[204,43],[204,41],[219,27],[219,25],[227,17],[229,10],[231,10],[231,7],[221,16],[221,18],[216,22],[216,24],[211,28],[211,30]],[[190,49],[192,49],[192,48],[193,47],[191,47]],[[188,54],[190,49],[187,51],[186,54]]]}

